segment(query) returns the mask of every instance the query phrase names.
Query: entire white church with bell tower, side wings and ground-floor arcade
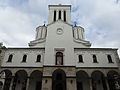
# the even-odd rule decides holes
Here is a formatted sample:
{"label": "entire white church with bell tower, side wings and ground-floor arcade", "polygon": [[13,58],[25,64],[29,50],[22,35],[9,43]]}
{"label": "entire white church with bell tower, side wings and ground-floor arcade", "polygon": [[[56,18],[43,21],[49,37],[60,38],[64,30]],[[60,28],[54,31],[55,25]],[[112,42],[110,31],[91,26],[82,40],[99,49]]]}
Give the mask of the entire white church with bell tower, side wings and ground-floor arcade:
{"label": "entire white church with bell tower, side wings and ground-floor arcade", "polygon": [[29,48],[0,48],[0,90],[120,90],[117,49],[91,48],[71,5],[49,5]]}

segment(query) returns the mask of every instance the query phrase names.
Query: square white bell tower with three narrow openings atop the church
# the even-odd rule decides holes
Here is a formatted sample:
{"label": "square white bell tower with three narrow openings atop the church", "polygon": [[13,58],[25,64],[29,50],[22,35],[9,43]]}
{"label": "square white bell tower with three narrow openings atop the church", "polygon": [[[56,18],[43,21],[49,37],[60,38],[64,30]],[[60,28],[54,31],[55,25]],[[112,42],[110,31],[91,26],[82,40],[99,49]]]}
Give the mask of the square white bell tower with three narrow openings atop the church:
{"label": "square white bell tower with three narrow openings atop the church", "polygon": [[66,23],[71,22],[71,5],[49,5],[48,24],[57,20],[62,20]]}

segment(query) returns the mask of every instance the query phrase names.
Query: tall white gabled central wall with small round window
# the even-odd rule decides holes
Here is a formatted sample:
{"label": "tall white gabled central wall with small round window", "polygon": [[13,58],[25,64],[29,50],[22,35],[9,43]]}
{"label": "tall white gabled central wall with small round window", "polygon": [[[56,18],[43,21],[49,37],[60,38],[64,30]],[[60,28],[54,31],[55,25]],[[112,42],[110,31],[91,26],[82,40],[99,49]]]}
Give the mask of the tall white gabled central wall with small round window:
{"label": "tall white gabled central wall with small round window", "polygon": [[[63,30],[61,35],[57,33],[58,28]],[[63,50],[64,65],[75,65],[72,26],[62,21],[57,21],[47,28],[44,65],[55,65],[56,50]]]}

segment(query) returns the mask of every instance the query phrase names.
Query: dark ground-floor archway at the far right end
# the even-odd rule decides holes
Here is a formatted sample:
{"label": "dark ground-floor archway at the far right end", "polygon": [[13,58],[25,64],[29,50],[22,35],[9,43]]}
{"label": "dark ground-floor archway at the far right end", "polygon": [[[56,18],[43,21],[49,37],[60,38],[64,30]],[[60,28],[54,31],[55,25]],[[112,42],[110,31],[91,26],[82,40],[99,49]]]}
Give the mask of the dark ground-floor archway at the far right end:
{"label": "dark ground-floor archway at the far right end", "polygon": [[107,73],[108,85],[110,90],[120,90],[120,75],[116,71],[109,71]]}

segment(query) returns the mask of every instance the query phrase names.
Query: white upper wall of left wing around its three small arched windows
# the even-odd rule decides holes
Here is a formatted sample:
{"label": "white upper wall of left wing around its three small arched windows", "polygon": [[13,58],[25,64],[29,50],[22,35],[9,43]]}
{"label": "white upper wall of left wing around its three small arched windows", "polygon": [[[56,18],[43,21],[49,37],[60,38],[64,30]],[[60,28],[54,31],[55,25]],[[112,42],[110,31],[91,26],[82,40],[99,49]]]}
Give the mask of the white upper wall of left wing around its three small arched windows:
{"label": "white upper wall of left wing around its three small arched windows", "polygon": [[[10,54],[13,54],[12,62],[7,62]],[[27,55],[26,62],[22,62],[23,55]],[[36,62],[37,55],[41,55],[41,62]],[[4,59],[2,60],[3,67],[42,67],[44,59],[44,49],[7,49]]]}

